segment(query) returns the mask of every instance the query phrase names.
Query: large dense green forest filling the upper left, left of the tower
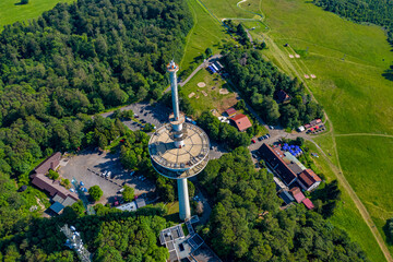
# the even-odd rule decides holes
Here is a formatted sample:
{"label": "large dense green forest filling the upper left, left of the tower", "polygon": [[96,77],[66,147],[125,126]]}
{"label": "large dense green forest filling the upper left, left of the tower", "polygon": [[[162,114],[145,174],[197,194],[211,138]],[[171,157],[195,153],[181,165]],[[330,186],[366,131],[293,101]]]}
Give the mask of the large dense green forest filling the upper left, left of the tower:
{"label": "large dense green forest filling the upper left, left of the tower", "polygon": [[159,98],[168,83],[165,63],[181,56],[191,26],[181,0],[80,0],[7,25],[0,171],[19,176],[52,150],[107,144],[115,136],[107,126],[115,123],[95,120],[99,126],[85,114]]}

